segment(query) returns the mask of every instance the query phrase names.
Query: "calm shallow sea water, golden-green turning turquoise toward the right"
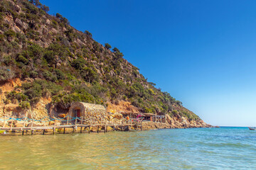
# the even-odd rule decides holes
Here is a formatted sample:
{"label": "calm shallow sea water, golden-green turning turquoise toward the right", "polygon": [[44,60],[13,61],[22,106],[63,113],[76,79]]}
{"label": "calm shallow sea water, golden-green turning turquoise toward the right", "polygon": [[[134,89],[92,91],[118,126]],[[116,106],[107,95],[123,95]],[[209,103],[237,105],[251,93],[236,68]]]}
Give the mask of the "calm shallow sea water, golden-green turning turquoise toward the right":
{"label": "calm shallow sea water, golden-green turning turquoise toward the right", "polygon": [[0,169],[256,169],[247,128],[0,138]]}

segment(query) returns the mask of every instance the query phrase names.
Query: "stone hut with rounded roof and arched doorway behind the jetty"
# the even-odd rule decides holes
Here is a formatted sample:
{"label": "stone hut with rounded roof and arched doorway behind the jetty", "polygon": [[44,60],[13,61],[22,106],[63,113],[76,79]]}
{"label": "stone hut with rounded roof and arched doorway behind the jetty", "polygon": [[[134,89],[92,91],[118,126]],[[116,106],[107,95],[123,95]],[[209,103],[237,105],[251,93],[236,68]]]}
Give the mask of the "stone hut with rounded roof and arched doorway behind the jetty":
{"label": "stone hut with rounded roof and arched doorway behind the jetty", "polygon": [[75,102],[72,103],[68,115],[73,118],[83,117],[87,118],[100,118],[100,116],[104,116],[107,113],[107,109],[102,105],[92,104],[92,103],[83,103],[83,102]]}

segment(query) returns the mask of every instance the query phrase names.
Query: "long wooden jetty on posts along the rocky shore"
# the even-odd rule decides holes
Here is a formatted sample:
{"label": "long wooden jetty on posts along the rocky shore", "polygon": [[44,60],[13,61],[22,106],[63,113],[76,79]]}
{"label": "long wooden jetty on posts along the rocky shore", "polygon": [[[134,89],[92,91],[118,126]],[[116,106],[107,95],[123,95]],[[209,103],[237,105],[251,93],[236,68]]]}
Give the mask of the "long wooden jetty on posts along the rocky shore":
{"label": "long wooden jetty on posts along the rocky shore", "polygon": [[[45,135],[45,134],[53,134],[55,135],[55,133],[69,133],[69,132],[85,132],[87,131],[88,133],[91,132],[91,128],[96,127],[97,128],[97,132],[100,132],[101,129],[104,129],[104,132],[107,132],[107,128],[110,127],[112,128],[113,131],[130,131],[131,128],[133,128],[134,130],[142,130],[142,120],[140,119],[136,119],[136,120],[126,120],[126,119],[122,119],[122,120],[112,120],[112,121],[107,121],[105,119],[105,121],[103,121],[103,118],[100,118],[98,120],[95,120],[95,118],[89,118],[87,120],[87,123],[85,123],[85,119],[80,117],[80,118],[73,118],[72,120],[75,121],[70,121],[69,120],[70,116],[66,116],[65,118],[61,119],[61,123],[59,123],[60,125],[56,125],[56,121],[55,119],[51,119],[45,122],[53,122],[54,121],[54,125],[44,125],[44,126],[34,126],[33,123],[35,123],[36,121],[40,121],[40,120],[30,120],[28,122],[28,118],[26,119],[18,119],[18,121],[23,121],[23,127],[13,127],[14,125],[14,120],[17,120],[15,118],[9,118],[7,120],[9,120],[9,123],[11,121],[11,126],[10,127],[5,127],[5,123],[3,127],[0,127],[0,130],[6,130],[9,132],[21,132],[22,135],[24,135],[24,133],[26,134],[30,134],[33,135],[34,132],[39,132],[39,134]],[[71,117],[72,118],[72,117]],[[56,119],[56,120],[60,120],[60,119]],[[79,121],[78,121],[79,120]],[[5,122],[6,120],[4,120]],[[70,122],[70,123],[69,123]],[[99,123],[100,122],[100,123]],[[26,127],[25,124],[29,123],[31,124],[30,127]],[[61,132],[59,132],[58,130],[62,129]],[[57,130],[57,132],[56,132]],[[67,132],[68,131],[68,132]],[[16,133],[17,134],[17,133]],[[17,134],[18,135],[18,134]]]}

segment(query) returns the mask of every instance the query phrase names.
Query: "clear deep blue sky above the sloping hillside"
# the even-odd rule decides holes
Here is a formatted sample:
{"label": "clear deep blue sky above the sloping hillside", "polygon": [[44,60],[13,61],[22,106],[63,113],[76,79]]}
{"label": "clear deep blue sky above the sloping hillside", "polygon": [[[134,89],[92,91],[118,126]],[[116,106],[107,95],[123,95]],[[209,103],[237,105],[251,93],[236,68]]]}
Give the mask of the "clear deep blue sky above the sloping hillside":
{"label": "clear deep blue sky above the sloping hillside", "polygon": [[212,125],[256,126],[256,1],[41,0]]}

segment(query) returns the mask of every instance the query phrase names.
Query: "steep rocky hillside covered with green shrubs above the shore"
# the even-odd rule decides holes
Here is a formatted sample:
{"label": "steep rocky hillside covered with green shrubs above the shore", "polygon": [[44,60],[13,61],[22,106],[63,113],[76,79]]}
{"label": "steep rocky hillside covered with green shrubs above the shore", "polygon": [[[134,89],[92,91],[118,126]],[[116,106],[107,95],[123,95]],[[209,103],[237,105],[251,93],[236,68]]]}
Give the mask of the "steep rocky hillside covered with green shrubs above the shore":
{"label": "steep rocky hillside covered with green shrubs above the shore", "polygon": [[76,30],[48,10],[39,1],[0,1],[0,116],[40,118],[83,101],[112,112],[167,113],[170,124],[206,126],[181,101],[148,82],[117,47],[101,45],[89,31]]}

